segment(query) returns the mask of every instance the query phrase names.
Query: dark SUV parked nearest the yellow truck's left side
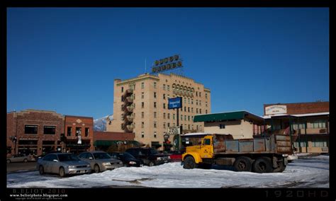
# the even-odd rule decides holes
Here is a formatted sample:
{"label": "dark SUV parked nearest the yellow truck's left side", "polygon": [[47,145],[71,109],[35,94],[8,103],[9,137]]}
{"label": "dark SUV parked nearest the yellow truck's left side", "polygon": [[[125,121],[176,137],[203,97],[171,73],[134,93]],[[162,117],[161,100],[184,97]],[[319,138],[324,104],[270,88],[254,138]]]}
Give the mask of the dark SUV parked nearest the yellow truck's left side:
{"label": "dark SUV parked nearest the yellow truck's left side", "polygon": [[145,166],[157,166],[170,162],[168,154],[159,154],[153,148],[130,148],[126,152],[132,154],[136,159],[142,160]]}

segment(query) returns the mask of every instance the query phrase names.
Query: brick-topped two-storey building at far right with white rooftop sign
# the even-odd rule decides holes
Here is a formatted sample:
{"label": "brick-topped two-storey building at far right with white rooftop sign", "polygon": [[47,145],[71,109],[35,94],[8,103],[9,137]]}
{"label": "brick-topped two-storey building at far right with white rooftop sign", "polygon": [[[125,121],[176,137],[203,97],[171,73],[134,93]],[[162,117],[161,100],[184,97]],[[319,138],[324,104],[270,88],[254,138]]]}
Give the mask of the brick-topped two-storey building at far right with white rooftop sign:
{"label": "brick-topped two-storey building at far right with white rooftop sign", "polygon": [[329,102],[264,104],[264,119],[272,130],[290,128],[298,152],[329,152]]}

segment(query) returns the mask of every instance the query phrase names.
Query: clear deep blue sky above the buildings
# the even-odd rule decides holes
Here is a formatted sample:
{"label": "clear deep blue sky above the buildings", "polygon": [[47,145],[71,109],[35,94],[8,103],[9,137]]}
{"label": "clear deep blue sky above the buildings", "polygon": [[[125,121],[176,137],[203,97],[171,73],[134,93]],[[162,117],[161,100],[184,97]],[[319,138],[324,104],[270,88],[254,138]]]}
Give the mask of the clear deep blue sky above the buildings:
{"label": "clear deep blue sky above the buildings", "polygon": [[180,54],[213,113],[329,101],[328,8],[8,8],[7,112],[113,113],[113,79]]}

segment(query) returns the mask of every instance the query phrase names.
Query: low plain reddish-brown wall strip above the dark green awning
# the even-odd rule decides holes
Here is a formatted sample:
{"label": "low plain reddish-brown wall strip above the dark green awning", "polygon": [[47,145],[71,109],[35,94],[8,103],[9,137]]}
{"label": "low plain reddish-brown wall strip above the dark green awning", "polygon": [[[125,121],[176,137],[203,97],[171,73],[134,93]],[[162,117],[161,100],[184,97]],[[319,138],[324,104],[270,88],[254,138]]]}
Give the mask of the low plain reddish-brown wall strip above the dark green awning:
{"label": "low plain reddish-brown wall strip above the dark green awning", "polygon": [[133,132],[94,132],[94,141],[96,140],[134,140]]}

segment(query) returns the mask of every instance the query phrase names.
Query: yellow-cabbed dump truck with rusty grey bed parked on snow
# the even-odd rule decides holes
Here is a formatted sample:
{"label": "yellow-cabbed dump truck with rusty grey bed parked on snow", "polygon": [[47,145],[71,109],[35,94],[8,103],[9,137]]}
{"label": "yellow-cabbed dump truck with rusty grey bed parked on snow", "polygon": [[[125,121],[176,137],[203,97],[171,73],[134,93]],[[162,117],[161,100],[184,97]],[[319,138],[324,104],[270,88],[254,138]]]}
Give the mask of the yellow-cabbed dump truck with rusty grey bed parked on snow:
{"label": "yellow-cabbed dump truck with rusty grey bed parked on snow", "polygon": [[212,165],[233,166],[235,171],[276,173],[285,170],[293,153],[291,138],[272,134],[254,139],[233,139],[230,134],[208,134],[201,143],[186,147],[183,167],[211,168]]}

